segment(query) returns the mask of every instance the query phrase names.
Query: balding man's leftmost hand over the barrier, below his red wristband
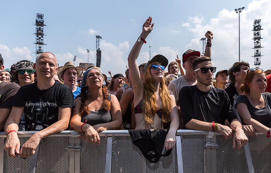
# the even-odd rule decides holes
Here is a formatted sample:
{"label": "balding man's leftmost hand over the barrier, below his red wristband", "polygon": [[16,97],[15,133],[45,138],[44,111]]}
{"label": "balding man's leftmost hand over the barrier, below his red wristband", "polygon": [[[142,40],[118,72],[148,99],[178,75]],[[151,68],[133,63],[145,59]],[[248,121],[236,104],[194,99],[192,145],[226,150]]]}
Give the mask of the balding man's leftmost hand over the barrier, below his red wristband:
{"label": "balding man's leftmost hand over the barrier, below his red wristband", "polygon": [[8,157],[18,157],[16,154],[19,154],[20,152],[20,141],[17,133],[11,132],[6,136],[4,150]]}

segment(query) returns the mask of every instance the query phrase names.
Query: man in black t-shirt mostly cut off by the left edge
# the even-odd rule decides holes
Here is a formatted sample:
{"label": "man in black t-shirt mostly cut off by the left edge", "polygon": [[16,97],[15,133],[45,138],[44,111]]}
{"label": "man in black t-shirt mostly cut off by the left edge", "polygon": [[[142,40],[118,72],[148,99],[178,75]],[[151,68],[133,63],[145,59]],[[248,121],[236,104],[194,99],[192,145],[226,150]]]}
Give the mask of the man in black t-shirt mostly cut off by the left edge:
{"label": "man in black t-shirt mostly cut off by the left edge", "polygon": [[[0,71],[5,68],[3,62],[3,57],[0,53]],[[6,119],[11,112],[12,98],[17,93],[19,88],[20,86],[16,83],[0,81],[0,131],[4,129]]]}

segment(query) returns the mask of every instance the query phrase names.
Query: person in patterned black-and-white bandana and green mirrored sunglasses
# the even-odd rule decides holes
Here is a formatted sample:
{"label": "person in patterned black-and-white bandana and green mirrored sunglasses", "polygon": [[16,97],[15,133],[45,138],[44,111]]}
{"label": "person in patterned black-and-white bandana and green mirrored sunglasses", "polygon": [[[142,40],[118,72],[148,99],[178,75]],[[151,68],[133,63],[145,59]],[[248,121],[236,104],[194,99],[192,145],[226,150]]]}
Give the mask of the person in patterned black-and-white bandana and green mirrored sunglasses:
{"label": "person in patterned black-and-white bandana and green mirrored sunglasses", "polygon": [[[34,83],[35,70],[33,69],[34,62],[21,60],[11,65],[10,80],[17,83],[20,87]],[[19,131],[25,129],[24,112],[19,122]]]}

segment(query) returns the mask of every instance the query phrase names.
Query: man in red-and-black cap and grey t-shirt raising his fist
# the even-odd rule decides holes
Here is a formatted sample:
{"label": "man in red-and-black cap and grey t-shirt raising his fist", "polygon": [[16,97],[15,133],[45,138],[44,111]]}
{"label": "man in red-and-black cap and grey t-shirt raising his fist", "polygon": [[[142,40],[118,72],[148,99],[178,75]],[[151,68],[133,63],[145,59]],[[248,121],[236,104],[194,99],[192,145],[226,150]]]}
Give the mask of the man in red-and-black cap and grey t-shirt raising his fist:
{"label": "man in red-and-black cap and grey t-shirt raising his fist", "polygon": [[[205,57],[211,57],[211,40],[213,39],[213,33],[210,31],[207,31],[205,33],[205,37],[207,38],[207,45],[205,48],[204,56]],[[183,53],[183,68],[185,70],[185,75],[181,76],[180,78],[172,80],[168,86],[167,89],[173,92],[173,95],[175,97],[176,105],[178,108],[179,116],[180,116],[180,126],[183,128],[183,122],[181,118],[181,112],[180,112],[180,104],[179,104],[179,92],[182,87],[184,86],[192,86],[197,84],[197,80],[193,77],[192,72],[192,62],[197,58],[200,57],[201,53],[199,51],[188,49]],[[213,84],[212,84],[213,86]]]}

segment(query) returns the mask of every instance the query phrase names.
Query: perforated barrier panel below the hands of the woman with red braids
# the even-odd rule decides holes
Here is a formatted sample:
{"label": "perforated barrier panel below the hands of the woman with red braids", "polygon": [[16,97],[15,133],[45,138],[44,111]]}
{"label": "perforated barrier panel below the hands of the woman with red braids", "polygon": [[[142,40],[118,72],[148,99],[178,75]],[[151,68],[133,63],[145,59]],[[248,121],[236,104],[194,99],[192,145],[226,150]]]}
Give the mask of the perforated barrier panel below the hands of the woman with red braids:
{"label": "perforated barrier panel below the hands of the woman with red braids", "polygon": [[106,158],[105,137],[100,137],[100,144],[94,145],[82,141],[82,173],[102,173],[105,171]]}

